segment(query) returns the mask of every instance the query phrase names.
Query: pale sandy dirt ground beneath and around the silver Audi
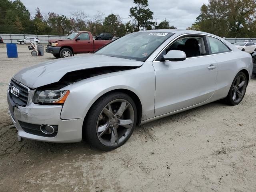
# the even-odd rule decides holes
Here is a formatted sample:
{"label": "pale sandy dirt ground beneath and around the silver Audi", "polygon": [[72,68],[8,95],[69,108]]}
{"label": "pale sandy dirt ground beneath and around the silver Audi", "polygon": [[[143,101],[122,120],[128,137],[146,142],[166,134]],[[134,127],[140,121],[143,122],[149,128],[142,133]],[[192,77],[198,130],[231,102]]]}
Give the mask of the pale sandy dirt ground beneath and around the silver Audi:
{"label": "pale sandy dirt ground beneath and around the silver Audi", "polygon": [[22,68],[51,54],[18,58],[0,47],[0,192],[255,192],[256,79],[238,106],[214,102],[136,127],[122,147],[24,139],[9,128],[6,90]]}

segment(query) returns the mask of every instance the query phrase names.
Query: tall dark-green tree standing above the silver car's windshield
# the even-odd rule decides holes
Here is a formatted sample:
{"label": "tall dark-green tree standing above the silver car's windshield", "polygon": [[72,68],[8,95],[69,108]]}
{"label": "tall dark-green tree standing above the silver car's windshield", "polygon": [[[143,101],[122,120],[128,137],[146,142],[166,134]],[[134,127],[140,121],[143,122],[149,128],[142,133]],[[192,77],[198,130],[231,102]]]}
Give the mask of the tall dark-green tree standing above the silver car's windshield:
{"label": "tall dark-green tree standing above the silver car's windshield", "polygon": [[130,8],[129,16],[136,21],[136,31],[139,31],[140,27],[144,26],[149,28],[149,25],[152,24],[153,12],[147,8],[148,0],[134,0],[133,2],[136,6]]}

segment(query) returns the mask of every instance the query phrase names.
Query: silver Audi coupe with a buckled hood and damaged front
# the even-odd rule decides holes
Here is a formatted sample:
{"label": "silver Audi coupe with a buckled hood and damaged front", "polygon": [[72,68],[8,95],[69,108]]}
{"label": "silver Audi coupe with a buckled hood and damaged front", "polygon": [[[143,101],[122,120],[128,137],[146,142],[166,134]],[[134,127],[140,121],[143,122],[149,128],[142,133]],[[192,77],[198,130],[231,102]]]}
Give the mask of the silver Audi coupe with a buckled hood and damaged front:
{"label": "silver Audi coupe with a buckled hood and damaged front", "polygon": [[225,99],[237,105],[252,56],[190,30],[128,34],[94,54],[44,62],[10,80],[8,106],[18,138],[124,144],[137,124]]}

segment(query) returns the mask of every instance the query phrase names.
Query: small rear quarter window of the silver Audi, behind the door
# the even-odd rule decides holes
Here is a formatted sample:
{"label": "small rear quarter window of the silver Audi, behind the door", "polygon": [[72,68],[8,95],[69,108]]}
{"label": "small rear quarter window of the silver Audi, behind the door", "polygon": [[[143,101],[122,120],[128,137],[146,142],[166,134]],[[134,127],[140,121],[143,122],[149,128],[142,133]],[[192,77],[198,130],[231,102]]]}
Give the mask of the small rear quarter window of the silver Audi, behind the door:
{"label": "small rear quarter window of the silver Audi, behind the door", "polygon": [[230,49],[217,38],[206,36],[210,54],[230,52]]}

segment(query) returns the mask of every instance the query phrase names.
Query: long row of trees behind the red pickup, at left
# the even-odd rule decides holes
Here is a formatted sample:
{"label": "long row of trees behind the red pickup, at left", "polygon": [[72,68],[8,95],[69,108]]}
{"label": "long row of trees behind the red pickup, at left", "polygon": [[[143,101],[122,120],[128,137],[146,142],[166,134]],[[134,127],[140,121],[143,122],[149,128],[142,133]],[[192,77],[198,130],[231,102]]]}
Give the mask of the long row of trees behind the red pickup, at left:
{"label": "long row of trees behind the red pickup, at left", "polygon": [[[83,10],[78,10],[67,17],[54,12],[43,15],[40,8],[36,8],[36,14],[31,16],[20,0],[0,0],[0,33],[66,35],[74,31],[90,31],[93,35],[105,32],[121,37],[154,28],[154,13],[148,8],[148,0],[134,0],[134,4],[130,8],[131,19],[123,23],[118,14],[105,16],[100,11],[89,17]],[[175,27],[164,20],[156,28]]]}

